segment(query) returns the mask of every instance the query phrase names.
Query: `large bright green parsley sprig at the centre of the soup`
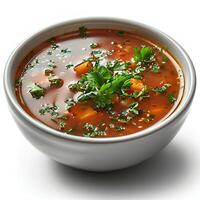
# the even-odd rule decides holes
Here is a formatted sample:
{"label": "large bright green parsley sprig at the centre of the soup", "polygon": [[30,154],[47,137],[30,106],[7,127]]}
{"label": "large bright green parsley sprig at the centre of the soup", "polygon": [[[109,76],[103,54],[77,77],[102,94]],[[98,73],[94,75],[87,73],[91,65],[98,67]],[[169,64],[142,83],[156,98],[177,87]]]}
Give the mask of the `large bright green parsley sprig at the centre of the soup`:
{"label": "large bright green parsley sprig at the centre of the soup", "polygon": [[102,66],[96,62],[90,72],[83,75],[77,83],[69,85],[69,88],[74,92],[81,92],[78,101],[92,99],[97,108],[111,110],[113,95],[124,95],[124,90],[131,86],[128,80],[134,76],[133,73],[114,73],[116,68],[124,68],[126,65],[126,62],[115,61],[114,64]]}

